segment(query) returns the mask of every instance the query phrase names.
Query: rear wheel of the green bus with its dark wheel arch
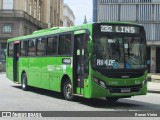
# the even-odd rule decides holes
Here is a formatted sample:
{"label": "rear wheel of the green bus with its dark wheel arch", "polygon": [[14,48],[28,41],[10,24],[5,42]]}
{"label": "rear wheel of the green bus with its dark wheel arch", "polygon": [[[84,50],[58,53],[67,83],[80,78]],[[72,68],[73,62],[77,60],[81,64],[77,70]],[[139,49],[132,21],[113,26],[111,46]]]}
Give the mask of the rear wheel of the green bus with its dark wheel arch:
{"label": "rear wheel of the green bus with its dark wheel arch", "polygon": [[22,71],[21,74],[21,87],[24,91],[28,90],[28,79],[25,71]]}

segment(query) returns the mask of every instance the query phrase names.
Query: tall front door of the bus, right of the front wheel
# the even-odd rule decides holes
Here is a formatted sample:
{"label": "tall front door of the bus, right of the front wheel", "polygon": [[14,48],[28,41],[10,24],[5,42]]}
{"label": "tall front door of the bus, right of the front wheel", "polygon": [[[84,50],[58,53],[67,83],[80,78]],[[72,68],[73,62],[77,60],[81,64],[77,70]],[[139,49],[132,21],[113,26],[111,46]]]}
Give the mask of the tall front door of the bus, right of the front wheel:
{"label": "tall front door of the bus, right of the front wheel", "polygon": [[83,94],[84,79],[88,76],[88,37],[86,30],[74,32],[74,57],[73,57],[73,92],[79,89],[80,94]]}

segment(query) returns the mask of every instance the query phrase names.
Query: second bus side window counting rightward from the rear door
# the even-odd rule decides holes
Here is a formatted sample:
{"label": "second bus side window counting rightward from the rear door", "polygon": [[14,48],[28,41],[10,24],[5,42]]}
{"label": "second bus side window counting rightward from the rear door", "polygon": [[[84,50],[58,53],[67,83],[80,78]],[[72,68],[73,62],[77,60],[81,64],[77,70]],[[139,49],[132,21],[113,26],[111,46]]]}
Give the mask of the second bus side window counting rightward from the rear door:
{"label": "second bus side window counting rightward from the rear door", "polygon": [[29,40],[28,56],[36,56],[36,39]]}

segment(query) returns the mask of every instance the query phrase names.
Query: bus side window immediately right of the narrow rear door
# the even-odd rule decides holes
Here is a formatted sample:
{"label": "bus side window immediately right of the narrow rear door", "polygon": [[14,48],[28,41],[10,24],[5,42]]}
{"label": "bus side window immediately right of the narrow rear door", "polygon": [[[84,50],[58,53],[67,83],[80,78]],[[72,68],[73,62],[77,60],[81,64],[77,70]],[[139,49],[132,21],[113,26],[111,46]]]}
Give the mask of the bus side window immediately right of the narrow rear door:
{"label": "bus side window immediately right of the narrow rear door", "polygon": [[27,56],[28,41],[21,41],[21,56]]}

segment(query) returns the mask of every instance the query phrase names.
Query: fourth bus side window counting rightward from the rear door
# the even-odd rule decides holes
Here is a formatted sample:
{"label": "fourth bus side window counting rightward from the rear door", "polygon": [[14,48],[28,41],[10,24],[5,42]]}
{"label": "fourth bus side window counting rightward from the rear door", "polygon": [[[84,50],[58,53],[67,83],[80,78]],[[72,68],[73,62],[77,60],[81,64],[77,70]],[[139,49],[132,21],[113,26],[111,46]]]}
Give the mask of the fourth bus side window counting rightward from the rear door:
{"label": "fourth bus side window counting rightward from the rear door", "polygon": [[47,40],[47,55],[57,55],[57,37],[49,37]]}

